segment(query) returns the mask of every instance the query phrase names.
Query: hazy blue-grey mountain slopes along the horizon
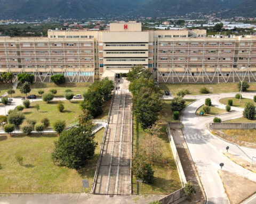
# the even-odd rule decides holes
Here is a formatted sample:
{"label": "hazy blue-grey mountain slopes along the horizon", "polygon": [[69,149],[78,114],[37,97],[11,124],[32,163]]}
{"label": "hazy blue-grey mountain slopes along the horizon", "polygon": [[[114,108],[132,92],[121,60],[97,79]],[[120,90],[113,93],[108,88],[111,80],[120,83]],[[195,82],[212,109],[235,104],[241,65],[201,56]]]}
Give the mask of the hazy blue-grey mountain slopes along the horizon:
{"label": "hazy blue-grey mountain slopes along the horizon", "polygon": [[0,0],[0,7],[1,19],[161,17],[193,12],[256,15],[255,0]]}

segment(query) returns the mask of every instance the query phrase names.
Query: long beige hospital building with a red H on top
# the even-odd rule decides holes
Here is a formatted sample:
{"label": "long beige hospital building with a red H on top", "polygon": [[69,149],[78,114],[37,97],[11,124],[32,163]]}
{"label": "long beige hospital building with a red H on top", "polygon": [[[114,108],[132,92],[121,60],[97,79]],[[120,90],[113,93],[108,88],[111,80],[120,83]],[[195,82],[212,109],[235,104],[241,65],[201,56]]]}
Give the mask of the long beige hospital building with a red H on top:
{"label": "long beige hospital building with a red H on top", "polygon": [[[255,82],[256,37],[206,37],[206,30],[142,31],[110,23],[109,31],[49,30],[46,38],[0,38],[0,72],[33,73],[36,82],[114,79],[143,65],[159,82]],[[241,69],[245,67],[245,69]]]}

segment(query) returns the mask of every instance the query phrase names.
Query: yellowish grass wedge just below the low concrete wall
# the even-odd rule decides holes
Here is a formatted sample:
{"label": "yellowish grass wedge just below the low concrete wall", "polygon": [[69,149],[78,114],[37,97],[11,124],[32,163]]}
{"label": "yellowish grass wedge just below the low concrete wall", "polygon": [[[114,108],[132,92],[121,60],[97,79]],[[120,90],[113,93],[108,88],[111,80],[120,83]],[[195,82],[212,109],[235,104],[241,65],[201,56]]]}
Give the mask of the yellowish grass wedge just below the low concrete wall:
{"label": "yellowish grass wedge just below the low concrete wall", "polygon": [[256,143],[256,130],[221,130],[232,138]]}

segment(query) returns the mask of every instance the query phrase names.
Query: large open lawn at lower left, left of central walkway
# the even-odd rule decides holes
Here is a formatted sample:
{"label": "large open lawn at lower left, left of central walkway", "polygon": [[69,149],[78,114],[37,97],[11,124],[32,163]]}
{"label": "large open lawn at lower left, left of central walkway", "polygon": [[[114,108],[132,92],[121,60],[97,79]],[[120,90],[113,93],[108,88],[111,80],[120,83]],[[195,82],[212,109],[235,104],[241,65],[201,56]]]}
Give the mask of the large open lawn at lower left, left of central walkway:
{"label": "large open lawn at lower left, left of central walkway", "polygon": [[[55,134],[0,135],[0,192],[81,192],[82,179],[93,182],[104,129],[95,134],[98,146],[93,158],[79,171],[53,165]],[[21,155],[23,165],[15,160]],[[73,186],[73,188],[72,188]],[[90,190],[89,188],[89,190]],[[85,191],[88,191],[87,189]]]}

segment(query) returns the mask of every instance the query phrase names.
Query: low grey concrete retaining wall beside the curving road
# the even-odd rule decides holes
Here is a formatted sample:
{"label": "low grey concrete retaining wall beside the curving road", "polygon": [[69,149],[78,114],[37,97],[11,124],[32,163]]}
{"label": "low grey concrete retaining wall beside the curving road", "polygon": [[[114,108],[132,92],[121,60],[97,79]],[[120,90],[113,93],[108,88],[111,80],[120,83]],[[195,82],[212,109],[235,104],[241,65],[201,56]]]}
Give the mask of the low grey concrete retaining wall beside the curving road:
{"label": "low grey concrete retaining wall beside the curving road", "polygon": [[210,129],[256,129],[256,123],[210,123]]}

